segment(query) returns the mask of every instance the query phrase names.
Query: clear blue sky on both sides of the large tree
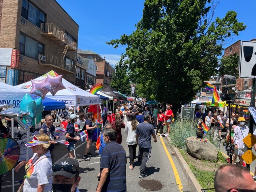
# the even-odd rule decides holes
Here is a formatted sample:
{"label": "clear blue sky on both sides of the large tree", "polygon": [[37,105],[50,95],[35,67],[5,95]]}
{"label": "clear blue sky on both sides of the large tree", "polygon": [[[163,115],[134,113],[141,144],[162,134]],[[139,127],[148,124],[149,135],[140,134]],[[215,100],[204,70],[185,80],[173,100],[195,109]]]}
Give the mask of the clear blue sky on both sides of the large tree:
{"label": "clear blue sky on both sides of the large tree", "polygon": [[[105,56],[112,65],[119,61],[125,47],[114,49],[105,42],[117,39],[122,34],[131,34],[142,18],[144,3],[144,0],[57,1],[79,25],[78,48]],[[214,17],[223,18],[227,11],[234,10],[238,21],[247,25],[246,30],[230,39],[224,48],[240,39],[249,41],[256,38],[255,7],[256,0],[220,0]]]}

